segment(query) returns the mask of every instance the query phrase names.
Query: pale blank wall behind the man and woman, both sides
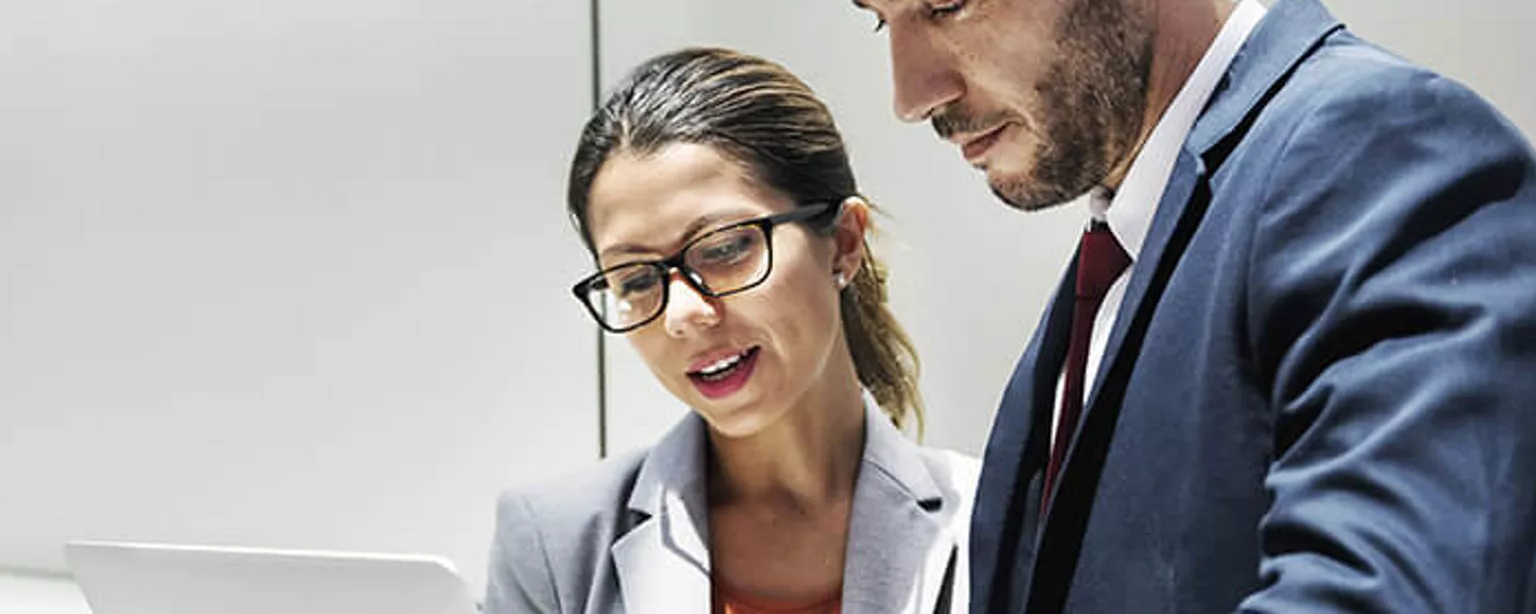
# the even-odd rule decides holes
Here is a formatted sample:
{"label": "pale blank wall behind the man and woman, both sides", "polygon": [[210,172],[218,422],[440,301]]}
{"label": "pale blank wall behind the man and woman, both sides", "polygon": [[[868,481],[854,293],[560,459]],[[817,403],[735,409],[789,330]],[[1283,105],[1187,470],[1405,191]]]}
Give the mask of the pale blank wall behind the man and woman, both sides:
{"label": "pale blank wall behind the man and woman, both sides", "polygon": [[[1333,0],[1536,134],[1536,8]],[[594,94],[685,45],[828,101],[978,453],[1081,224],[891,114],[836,0],[0,0],[0,612],[84,612],[66,539],[429,553],[484,586],[496,494],[685,411],[568,286]]]}

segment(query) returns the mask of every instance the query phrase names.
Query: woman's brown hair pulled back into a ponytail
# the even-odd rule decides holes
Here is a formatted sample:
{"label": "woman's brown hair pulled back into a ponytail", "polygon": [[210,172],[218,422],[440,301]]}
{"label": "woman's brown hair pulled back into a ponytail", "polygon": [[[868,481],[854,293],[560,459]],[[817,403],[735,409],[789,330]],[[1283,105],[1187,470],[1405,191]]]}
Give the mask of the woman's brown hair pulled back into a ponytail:
{"label": "woman's brown hair pulled back into a ponytail", "polygon": [[[799,206],[859,195],[843,137],[811,87],[759,57],[676,51],[636,68],[581,134],[567,206],[588,250],[588,196],[602,164],[617,152],[647,155],[680,143],[716,147]],[[902,427],[915,418],[922,433],[917,350],[886,307],[886,270],[868,244],[840,302],[859,382],[891,422]]]}

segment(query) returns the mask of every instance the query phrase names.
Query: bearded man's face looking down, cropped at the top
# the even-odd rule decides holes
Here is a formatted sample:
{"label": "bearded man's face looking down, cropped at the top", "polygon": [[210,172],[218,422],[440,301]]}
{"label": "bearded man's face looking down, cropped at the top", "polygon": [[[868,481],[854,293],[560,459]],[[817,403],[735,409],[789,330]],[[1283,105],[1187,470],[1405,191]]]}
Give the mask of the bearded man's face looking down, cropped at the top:
{"label": "bearded man's face looking down, cropped at the top", "polygon": [[928,120],[1023,209],[1071,201],[1130,158],[1152,28],[1138,0],[854,0],[891,38],[895,114]]}

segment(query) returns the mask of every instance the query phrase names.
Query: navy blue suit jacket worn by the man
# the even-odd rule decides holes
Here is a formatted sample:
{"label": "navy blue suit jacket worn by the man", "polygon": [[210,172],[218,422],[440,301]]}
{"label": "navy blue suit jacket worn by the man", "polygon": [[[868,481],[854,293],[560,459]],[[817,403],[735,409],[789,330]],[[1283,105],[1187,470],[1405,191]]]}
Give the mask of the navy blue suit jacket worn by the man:
{"label": "navy blue suit jacket worn by the man", "polygon": [[1536,163],[1465,87],[1270,11],[1040,519],[1071,295],[992,427],[972,612],[1536,612]]}

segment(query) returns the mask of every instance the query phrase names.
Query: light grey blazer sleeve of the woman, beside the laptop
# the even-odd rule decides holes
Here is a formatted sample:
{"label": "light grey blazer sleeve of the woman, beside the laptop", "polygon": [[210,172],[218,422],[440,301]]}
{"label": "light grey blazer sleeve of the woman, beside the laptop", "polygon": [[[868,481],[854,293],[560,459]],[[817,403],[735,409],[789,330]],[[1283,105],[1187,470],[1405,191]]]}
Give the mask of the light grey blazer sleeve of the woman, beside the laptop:
{"label": "light grey blazer sleeve of the woman, beside the laptop", "polygon": [[496,505],[484,614],[561,611],[539,523],[528,500],[507,493]]}

